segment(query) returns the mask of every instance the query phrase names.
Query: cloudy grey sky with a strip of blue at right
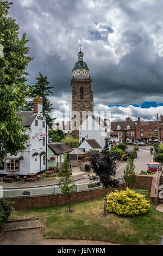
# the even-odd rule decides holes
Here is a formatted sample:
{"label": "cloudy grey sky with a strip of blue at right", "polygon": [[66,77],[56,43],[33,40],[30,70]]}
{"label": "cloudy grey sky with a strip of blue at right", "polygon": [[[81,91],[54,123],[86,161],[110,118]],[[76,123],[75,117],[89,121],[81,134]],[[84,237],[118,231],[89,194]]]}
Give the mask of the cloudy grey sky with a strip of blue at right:
{"label": "cloudy grey sky with a strip of blue at right", "polygon": [[12,0],[10,16],[26,32],[29,84],[39,72],[54,86],[53,117],[71,107],[79,44],[89,66],[95,110],[112,121],[163,114],[162,0]]}

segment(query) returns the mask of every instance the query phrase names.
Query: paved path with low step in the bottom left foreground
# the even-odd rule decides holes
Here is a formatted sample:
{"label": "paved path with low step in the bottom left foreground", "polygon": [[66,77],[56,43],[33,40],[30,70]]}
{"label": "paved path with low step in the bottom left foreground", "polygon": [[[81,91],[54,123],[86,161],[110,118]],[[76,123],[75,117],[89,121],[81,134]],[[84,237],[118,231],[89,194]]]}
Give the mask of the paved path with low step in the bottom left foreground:
{"label": "paved path with low step in the bottom left foreground", "polygon": [[43,218],[29,218],[10,221],[4,224],[0,232],[0,245],[117,245],[116,243],[71,240],[45,239],[43,237]]}

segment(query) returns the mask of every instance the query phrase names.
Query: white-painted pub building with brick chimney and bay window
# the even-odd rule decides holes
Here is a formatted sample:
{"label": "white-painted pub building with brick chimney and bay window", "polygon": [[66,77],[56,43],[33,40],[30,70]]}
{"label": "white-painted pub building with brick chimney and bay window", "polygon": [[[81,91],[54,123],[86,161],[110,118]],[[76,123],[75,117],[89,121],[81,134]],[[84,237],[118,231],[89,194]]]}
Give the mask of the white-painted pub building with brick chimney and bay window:
{"label": "white-painted pub building with brick chimney and bay window", "polygon": [[17,112],[22,115],[22,125],[28,127],[26,149],[17,156],[8,155],[0,166],[0,174],[27,175],[47,168],[48,126],[42,115],[42,100],[34,99],[34,111]]}

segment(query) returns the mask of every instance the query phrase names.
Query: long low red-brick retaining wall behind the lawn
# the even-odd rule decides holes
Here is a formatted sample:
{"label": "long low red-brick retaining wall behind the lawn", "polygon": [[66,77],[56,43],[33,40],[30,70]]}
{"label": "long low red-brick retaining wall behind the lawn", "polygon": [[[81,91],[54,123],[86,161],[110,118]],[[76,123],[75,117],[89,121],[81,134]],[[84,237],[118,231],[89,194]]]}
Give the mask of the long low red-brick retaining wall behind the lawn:
{"label": "long low red-brick retaining wall behind the lawn", "polygon": [[[134,188],[140,188],[145,190],[151,190],[152,185],[152,176],[147,175],[136,175],[136,182]],[[124,190],[126,185],[121,183],[118,187],[118,190]],[[114,191],[114,188],[109,187],[107,192]],[[71,197],[71,202],[82,202],[85,200],[95,199],[99,197],[104,197],[105,188],[97,188],[95,190],[86,190],[75,192]],[[45,196],[34,196],[34,197],[17,197],[12,198],[12,202],[14,202],[15,210],[26,210],[26,209],[34,209],[45,206],[56,206],[67,204],[68,201],[65,198],[64,194],[51,194]]]}

